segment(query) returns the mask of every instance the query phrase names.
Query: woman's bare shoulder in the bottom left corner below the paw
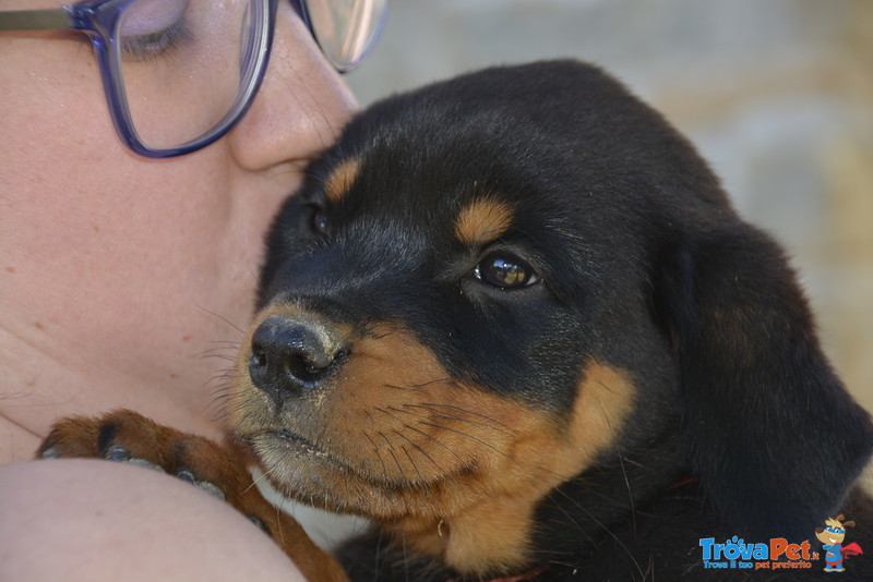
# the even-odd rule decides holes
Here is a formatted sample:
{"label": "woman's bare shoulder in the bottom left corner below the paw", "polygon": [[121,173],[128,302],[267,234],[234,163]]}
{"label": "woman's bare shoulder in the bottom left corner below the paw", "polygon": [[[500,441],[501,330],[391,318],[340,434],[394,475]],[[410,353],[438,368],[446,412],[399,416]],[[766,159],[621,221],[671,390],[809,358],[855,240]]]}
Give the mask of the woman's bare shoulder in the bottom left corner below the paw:
{"label": "woman's bare shoulder in the bottom left corner below the paw", "polygon": [[0,466],[0,580],[302,580],[231,507],[99,460]]}

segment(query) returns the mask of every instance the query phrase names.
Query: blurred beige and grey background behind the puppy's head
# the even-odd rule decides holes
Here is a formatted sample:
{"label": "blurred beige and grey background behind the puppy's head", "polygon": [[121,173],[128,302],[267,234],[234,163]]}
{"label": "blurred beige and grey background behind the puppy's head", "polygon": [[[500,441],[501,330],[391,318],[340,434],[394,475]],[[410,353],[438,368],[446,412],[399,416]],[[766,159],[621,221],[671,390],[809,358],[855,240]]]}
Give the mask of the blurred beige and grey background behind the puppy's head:
{"label": "blurred beige and grey background behind the puppy's head", "polygon": [[873,410],[873,2],[393,0],[347,78],[366,105],[557,57],[602,65],[692,138],[788,247],[825,350]]}

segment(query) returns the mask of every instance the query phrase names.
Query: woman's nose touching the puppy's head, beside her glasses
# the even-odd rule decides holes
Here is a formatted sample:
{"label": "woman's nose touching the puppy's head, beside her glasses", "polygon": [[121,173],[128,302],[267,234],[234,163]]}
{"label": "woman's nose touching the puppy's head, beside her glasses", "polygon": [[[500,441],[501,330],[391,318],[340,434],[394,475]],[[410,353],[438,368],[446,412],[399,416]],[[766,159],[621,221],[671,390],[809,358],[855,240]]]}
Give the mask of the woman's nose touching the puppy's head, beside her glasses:
{"label": "woman's nose touching the puppy's head, beside her glasses", "polygon": [[231,155],[250,171],[306,161],[336,141],[357,108],[306,24],[279,2],[264,81],[227,135]]}

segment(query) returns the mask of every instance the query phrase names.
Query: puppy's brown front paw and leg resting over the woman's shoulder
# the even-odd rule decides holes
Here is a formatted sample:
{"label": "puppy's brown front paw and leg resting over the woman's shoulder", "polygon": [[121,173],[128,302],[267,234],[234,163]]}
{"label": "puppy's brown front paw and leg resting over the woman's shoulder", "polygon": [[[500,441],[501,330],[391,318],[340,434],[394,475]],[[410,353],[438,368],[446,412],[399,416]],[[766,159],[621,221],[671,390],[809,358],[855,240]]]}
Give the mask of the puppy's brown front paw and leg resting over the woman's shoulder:
{"label": "puppy's brown front paw and leg resting over the woman's shoulder", "polygon": [[339,565],[289,516],[263,498],[240,456],[230,447],[182,433],[122,410],[97,419],[61,420],[37,458],[96,458],[175,475],[226,500],[266,532],[308,580],[346,580]]}

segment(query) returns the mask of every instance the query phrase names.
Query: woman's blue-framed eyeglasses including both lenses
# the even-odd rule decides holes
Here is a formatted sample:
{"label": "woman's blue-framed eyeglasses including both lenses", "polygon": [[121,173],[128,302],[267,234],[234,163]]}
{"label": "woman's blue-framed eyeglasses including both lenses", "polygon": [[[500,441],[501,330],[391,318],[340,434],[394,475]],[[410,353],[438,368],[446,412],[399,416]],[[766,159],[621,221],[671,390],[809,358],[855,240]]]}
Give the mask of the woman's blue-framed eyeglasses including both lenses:
{"label": "woman's blue-framed eyeglasses including both lenses", "polygon": [[[0,31],[72,29],[91,38],[116,131],[150,158],[190,154],[226,134],[264,77],[278,0],[85,0],[0,12]],[[327,60],[357,66],[387,0],[291,0]]]}

